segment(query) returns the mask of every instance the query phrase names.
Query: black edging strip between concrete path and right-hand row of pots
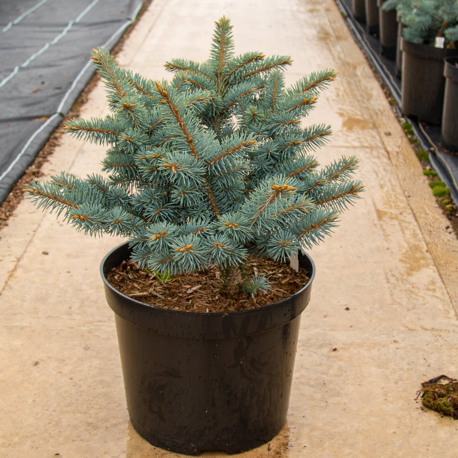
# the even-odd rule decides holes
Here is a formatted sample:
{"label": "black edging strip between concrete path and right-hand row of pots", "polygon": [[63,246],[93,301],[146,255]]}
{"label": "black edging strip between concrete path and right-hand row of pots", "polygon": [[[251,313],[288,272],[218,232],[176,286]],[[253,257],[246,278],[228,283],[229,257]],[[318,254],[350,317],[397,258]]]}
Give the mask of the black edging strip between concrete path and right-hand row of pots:
{"label": "black edging strip between concrete path and right-hand row of pots", "polygon": [[391,91],[396,104],[396,112],[398,118],[404,118],[406,122],[412,125],[412,130],[414,135],[417,137],[420,147],[424,151],[428,151],[429,161],[436,171],[439,178],[447,185],[447,188],[450,189],[450,196],[453,199],[455,205],[458,205],[458,184],[453,175],[452,170],[450,169],[447,162],[441,157],[439,150],[436,144],[431,140],[431,137],[425,132],[420,122],[417,122],[413,119],[410,119],[408,116],[402,114],[401,111],[401,91],[398,88],[398,85],[393,81],[393,76],[387,70],[386,66],[380,60],[377,53],[372,48],[371,44],[365,38],[365,30],[360,26],[358,21],[353,17],[353,13],[348,5],[342,3],[341,0],[335,0],[336,4],[342,13],[342,16],[347,23],[347,26],[352,34],[354,40],[360,48],[363,50],[367,59],[371,65],[376,69],[383,82],[387,85],[388,89]]}

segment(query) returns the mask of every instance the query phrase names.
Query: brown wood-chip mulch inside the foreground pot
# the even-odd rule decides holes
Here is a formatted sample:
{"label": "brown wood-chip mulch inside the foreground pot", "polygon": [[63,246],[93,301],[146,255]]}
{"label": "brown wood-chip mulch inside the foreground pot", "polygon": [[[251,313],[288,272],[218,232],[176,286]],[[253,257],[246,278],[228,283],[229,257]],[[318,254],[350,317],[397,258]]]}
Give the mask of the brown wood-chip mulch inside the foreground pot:
{"label": "brown wood-chip mulch inside the foreground pot", "polygon": [[122,262],[108,274],[109,283],[122,294],[145,304],[171,310],[189,312],[238,311],[272,304],[302,289],[309,281],[305,269],[294,271],[289,264],[270,259],[249,257],[245,262],[245,274],[266,273],[270,277],[271,290],[251,294],[240,292],[229,296],[221,291],[220,272],[213,266],[197,273],[177,274],[168,281],[161,281],[154,272],[138,269],[136,263]]}

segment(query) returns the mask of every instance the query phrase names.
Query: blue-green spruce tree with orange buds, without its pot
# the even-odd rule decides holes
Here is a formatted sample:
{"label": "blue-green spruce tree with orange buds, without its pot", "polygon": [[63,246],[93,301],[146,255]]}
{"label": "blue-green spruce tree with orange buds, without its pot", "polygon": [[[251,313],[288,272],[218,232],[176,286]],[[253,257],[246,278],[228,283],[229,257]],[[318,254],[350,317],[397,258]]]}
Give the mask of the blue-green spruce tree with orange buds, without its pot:
{"label": "blue-green spruce tree with orange buds, without its pot", "polygon": [[94,50],[111,114],[71,120],[65,130],[109,146],[102,169],[109,175],[62,172],[26,192],[77,230],[126,237],[140,266],[174,274],[216,264],[221,289],[256,294],[269,282],[242,277],[247,256],[284,262],[317,244],[363,185],[350,179],[355,157],[320,168],[313,151],[330,126],[301,125],[336,72],[286,88],[290,57],[234,56],[231,27],[224,17],[217,22],[207,61],[165,64],[170,82],[133,74],[108,50]]}

